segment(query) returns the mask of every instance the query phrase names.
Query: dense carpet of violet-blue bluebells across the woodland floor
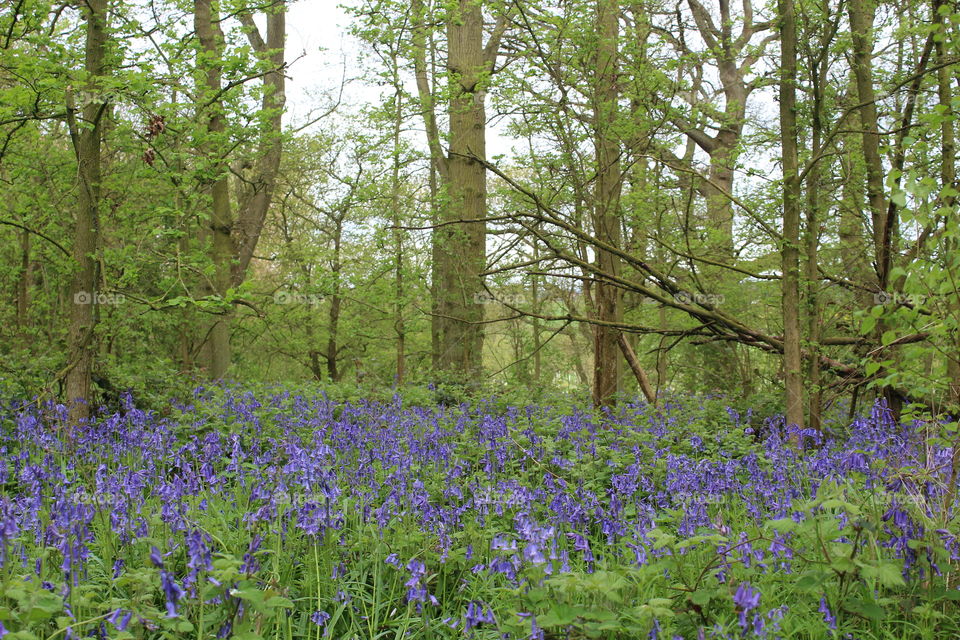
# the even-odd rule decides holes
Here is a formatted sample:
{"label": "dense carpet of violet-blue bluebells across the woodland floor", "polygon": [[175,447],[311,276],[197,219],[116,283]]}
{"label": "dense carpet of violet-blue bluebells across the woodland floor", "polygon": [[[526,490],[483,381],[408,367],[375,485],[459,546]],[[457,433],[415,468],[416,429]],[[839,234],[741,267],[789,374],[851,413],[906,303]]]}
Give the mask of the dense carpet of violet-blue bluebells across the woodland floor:
{"label": "dense carpet of violet-blue bluebells across the woodland floor", "polygon": [[[402,581],[405,601],[421,613],[445,607],[441,594],[431,592],[430,579],[433,565],[455,553],[466,559],[465,582],[494,579],[516,587],[527,569],[549,576],[589,573],[600,564],[644,566],[668,553],[648,535],[659,514],[680,509],[679,535],[706,528],[726,537],[716,547],[716,578],[730,584],[739,633],[767,637],[786,609],[764,610],[760,591],[732,581],[732,575],[735,569],[789,574],[795,551],[790,534],[775,533],[760,544],[744,529],[800,517],[797,505],[815,496],[823,479],[836,478],[881,491],[888,506],[882,545],[901,562],[906,580],[941,571],[911,544],[925,532],[903,505],[917,495],[935,503],[945,495],[945,483],[913,486],[884,469],[925,466],[930,477],[945,473],[952,451],[924,449],[909,426],[894,424],[880,406],[858,418],[844,441],[827,438],[802,454],[789,444],[795,434],[771,419],[756,450],[733,455],[721,446],[718,455],[707,456],[701,452],[709,435],[673,437],[688,415],[679,403],[656,411],[626,405],[596,416],[485,403],[422,408],[406,407],[400,398],[337,404],[285,393],[262,402],[249,392],[208,393],[198,390],[192,403],[178,405],[176,420],[128,402],[124,411],[76,430],[69,441],[59,435],[65,433],[62,408],[8,409],[5,422],[11,426],[0,439],[0,484],[7,487],[0,494],[0,566],[51,579],[38,554],[55,548],[57,582],[69,593],[88,578],[91,549],[105,544],[103,535],[116,550],[115,578],[138,553],[142,557],[137,550],[143,541],[168,540],[167,553],[179,550],[186,558],[182,570],[165,564],[155,547],[150,559],[167,615],[180,616],[185,605],[196,604],[198,585],[212,580],[214,555],[229,551],[197,523],[223,505],[241,505],[232,525],[246,532],[244,548],[233,550],[242,556],[241,573],[251,579],[262,573],[267,536],[280,536],[279,546],[295,563],[304,549],[323,544],[324,553],[337,557],[331,611],[353,606],[349,564],[333,548],[351,527],[372,527],[383,538],[401,527],[421,531],[434,541],[431,555],[408,549],[383,561]],[[730,410],[729,417],[730,429],[754,428],[750,415]],[[223,424],[230,429],[217,428]],[[553,433],[547,435],[543,425]],[[806,444],[821,439],[799,435]],[[717,438],[714,444],[722,445]],[[598,461],[608,471],[603,482],[572,472]],[[745,510],[748,521],[727,518],[727,503]],[[95,521],[109,528],[99,540]],[[466,531],[472,539],[464,538]],[[938,534],[953,560],[960,558],[956,535]],[[224,585],[221,596],[203,604],[240,609],[230,593]],[[303,615],[314,625],[329,623],[330,614],[313,606],[315,594],[291,595],[311,602]],[[460,618],[448,616],[448,624],[466,635],[477,627],[496,628],[500,617],[492,604],[475,598],[455,609]],[[824,624],[836,629],[825,599],[819,611]],[[530,623],[531,637],[543,637],[533,613],[520,615]],[[108,620],[125,628],[130,617],[130,611],[117,610]],[[727,631],[699,633],[724,637],[717,634]],[[230,633],[228,623],[221,634]]]}

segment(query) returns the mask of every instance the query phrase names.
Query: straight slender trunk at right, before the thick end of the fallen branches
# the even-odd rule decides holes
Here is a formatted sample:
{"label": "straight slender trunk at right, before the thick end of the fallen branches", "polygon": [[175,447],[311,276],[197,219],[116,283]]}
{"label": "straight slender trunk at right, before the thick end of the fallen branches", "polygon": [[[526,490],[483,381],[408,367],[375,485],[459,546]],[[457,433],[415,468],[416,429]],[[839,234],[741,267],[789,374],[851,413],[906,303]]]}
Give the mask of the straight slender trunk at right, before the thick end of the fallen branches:
{"label": "straight slender trunk at right, before the thick end of the fallen branches", "polygon": [[[800,349],[800,174],[797,152],[797,23],[780,0],[780,141],[783,151],[783,369],[788,425],[803,428]],[[796,437],[799,440],[799,436]]]}

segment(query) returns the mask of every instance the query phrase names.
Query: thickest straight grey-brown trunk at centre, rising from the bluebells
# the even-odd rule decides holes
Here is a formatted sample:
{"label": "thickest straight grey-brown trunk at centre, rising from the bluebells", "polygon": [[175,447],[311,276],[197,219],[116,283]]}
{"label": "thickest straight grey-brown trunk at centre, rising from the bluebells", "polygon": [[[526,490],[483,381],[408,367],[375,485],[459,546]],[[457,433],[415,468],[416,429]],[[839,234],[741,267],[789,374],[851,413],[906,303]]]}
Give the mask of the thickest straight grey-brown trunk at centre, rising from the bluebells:
{"label": "thickest straight grey-brown trunk at centre, rising from the bluebells", "polygon": [[[458,0],[447,19],[450,72],[449,200],[439,237],[439,297],[444,318],[440,364],[463,378],[482,370],[483,292],[486,267],[486,111],[489,64],[483,48],[479,2]],[[479,159],[479,161],[477,159]],[[461,222],[466,221],[466,222]]]}

